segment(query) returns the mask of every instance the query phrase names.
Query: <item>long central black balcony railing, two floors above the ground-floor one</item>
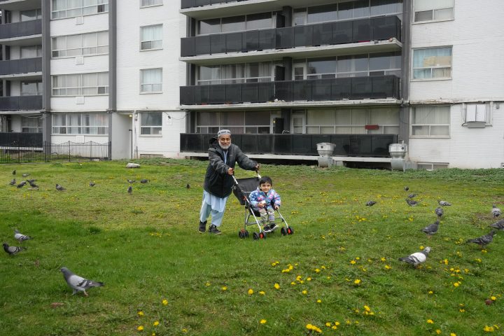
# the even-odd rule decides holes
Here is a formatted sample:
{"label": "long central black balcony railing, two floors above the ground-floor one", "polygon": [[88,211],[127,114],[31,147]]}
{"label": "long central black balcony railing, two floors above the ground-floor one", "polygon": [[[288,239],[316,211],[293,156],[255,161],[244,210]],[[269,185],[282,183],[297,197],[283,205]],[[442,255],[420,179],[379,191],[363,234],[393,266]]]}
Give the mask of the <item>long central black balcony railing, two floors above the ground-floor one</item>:
{"label": "long central black balcony railing, two floors above the ground-floor one", "polygon": [[181,56],[401,40],[397,16],[181,38]]}

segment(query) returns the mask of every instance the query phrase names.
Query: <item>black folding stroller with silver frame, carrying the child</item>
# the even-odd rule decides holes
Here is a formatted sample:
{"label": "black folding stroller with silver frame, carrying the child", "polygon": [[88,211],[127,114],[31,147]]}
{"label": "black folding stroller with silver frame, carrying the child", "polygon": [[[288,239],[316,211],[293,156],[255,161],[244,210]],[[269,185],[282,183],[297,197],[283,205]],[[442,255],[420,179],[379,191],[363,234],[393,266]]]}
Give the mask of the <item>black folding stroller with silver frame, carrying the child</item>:
{"label": "black folding stroller with silver frame, carrying the child", "polygon": [[[235,180],[233,194],[235,194],[235,196],[237,197],[240,205],[245,206],[245,225],[243,229],[239,230],[238,237],[248,237],[248,231],[246,230],[246,227],[248,225],[257,225],[259,232],[253,232],[253,239],[266,239],[266,232],[265,230],[262,230],[260,220],[258,220],[258,218],[260,218],[260,214],[258,211],[252,209],[251,203],[248,200],[250,194],[259,186],[260,175],[258,174],[256,177],[249,177],[247,179],[236,179],[234,175],[232,177],[233,180]],[[278,216],[275,216],[276,224],[285,224],[285,226],[280,230],[281,234],[283,236],[292,235],[294,233],[293,228],[287,224],[287,221],[285,220],[285,218],[283,218],[278,209],[276,209],[276,213],[278,214]]]}

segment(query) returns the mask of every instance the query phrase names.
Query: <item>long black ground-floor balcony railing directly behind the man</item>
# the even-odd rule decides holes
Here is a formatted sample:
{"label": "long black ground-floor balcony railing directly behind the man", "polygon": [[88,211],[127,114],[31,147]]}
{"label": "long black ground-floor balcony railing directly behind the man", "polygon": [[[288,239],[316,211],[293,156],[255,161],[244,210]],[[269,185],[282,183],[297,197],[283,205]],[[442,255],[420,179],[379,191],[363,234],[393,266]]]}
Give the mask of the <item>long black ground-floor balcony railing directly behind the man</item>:
{"label": "long black ground-floor balcony railing directly behind the man", "polygon": [[[208,153],[215,134],[181,133],[181,152]],[[316,144],[335,144],[334,156],[389,158],[388,145],[398,134],[233,134],[233,144],[247,154],[318,155]]]}

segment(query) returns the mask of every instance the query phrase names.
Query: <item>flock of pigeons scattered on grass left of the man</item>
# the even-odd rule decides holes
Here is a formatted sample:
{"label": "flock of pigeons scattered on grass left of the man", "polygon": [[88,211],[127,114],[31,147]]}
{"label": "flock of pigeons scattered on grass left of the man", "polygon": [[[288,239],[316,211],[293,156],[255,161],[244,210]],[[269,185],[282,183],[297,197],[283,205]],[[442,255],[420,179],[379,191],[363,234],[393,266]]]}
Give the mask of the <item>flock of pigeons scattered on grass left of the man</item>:
{"label": "flock of pigeons scattered on grass left of the man", "polygon": [[[12,172],[12,174],[15,176],[16,171],[14,170]],[[22,174],[23,178],[26,178],[28,176],[29,176],[29,174]],[[35,179],[27,179],[25,181],[21,181],[19,184],[16,185],[16,180],[14,178],[12,181],[10,181],[9,184],[10,184],[10,186],[17,186],[18,188],[22,188],[22,187],[26,186],[27,184],[29,184],[29,186],[31,186],[31,190],[38,190],[38,186],[35,184],[35,181],[36,181]],[[127,188],[127,193],[131,195],[133,192],[133,187],[131,185],[133,183],[135,183],[136,181],[130,180],[130,179],[128,179],[127,181],[128,181],[128,183],[130,183],[130,186]],[[148,179],[141,179],[140,180],[140,183],[143,183],[143,184],[148,183],[148,182],[149,182]],[[96,185],[96,183],[94,183],[93,181],[91,181],[89,183],[90,187],[94,187],[95,185]],[[187,188],[189,188],[189,185]],[[64,190],[66,190],[66,188],[64,188],[63,186],[56,183],[56,190],[64,191]],[[22,233],[19,232],[18,229],[15,229],[14,230],[14,239],[16,239],[17,241],[22,243],[23,241],[27,241],[32,238],[27,235],[23,235]],[[26,249],[27,249],[26,247],[9,246],[7,243],[3,243],[3,251],[6,251],[6,253],[8,253],[9,255],[16,255],[20,251],[25,251]],[[70,288],[73,289],[72,295],[75,293],[78,293],[78,292],[83,292],[84,295],[87,296],[86,289],[91,288],[91,287],[104,286],[103,282],[85,279],[82,276],[78,276],[77,274],[74,274],[66,267],[62,267],[59,270],[63,273],[63,277],[64,277],[66,283],[69,285]]]}

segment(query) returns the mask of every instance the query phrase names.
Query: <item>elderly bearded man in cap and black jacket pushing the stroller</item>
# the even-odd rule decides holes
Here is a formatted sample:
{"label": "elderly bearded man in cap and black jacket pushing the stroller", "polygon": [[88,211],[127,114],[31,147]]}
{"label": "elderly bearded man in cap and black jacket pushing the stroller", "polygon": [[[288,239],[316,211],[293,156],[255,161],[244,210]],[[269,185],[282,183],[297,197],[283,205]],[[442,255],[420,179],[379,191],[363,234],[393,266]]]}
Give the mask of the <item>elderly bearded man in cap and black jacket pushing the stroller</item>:
{"label": "elderly bearded man in cap and black jacket pushing the stroller", "polygon": [[204,179],[203,203],[200,211],[201,233],[207,229],[207,218],[211,214],[209,233],[220,235],[225,204],[231,194],[235,163],[246,170],[259,170],[258,162],[250,160],[240,148],[231,144],[230,130],[220,130],[217,137],[210,139],[209,165]]}

